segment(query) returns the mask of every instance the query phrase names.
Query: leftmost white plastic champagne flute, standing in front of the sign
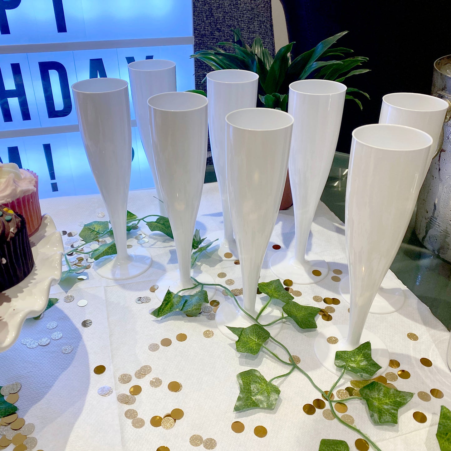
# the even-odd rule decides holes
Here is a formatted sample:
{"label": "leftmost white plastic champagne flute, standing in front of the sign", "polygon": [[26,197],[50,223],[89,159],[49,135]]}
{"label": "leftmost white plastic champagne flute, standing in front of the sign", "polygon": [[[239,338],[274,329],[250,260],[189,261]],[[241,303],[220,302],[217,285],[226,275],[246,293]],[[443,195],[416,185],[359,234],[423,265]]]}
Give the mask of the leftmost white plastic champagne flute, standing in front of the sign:
{"label": "leftmost white plastic champagne flute, standing in front of the sign", "polygon": [[127,200],[132,167],[129,85],[120,78],[90,78],[72,85],[78,125],[89,166],[105,202],[116,255],[94,263],[106,279],[139,276],[152,258],[143,247],[127,250]]}

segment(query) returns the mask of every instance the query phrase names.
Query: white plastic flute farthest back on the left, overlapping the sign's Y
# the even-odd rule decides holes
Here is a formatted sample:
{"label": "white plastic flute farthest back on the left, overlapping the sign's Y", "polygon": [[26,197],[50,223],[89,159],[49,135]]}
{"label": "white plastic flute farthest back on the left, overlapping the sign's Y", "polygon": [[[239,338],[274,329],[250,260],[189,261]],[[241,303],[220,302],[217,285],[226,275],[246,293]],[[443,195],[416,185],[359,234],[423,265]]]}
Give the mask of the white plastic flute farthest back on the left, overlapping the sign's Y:
{"label": "white plastic flute farthest back on the left, overlapping the sign's Y", "polygon": [[[161,188],[153,161],[152,140],[149,127],[149,106],[147,99],[161,92],[177,90],[175,81],[175,63],[168,60],[140,60],[129,64],[130,88],[136,124],[146,152],[147,161],[155,183],[156,197],[161,201]],[[167,216],[163,202],[158,202],[161,216]]]}

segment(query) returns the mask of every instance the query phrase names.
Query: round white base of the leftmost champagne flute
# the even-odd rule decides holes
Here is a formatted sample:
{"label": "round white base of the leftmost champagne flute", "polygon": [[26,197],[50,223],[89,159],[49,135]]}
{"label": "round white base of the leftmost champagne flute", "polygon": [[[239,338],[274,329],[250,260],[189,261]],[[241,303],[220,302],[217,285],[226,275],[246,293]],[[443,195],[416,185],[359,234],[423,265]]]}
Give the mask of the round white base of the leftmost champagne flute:
{"label": "round white base of the leftmost champagne flute", "polygon": [[94,271],[113,281],[132,279],[146,272],[152,265],[152,257],[146,248],[129,249],[129,260],[119,262],[116,255],[102,257],[94,263]]}

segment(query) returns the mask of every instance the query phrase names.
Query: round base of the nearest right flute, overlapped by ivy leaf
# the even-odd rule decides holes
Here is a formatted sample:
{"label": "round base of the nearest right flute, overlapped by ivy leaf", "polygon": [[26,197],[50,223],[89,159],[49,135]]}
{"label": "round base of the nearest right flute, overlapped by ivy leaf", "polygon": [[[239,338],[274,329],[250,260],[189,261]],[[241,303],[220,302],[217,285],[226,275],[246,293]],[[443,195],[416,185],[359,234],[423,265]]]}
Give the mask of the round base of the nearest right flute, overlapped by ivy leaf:
{"label": "round base of the nearest right flute, overlapped by ivy leaf", "polygon": [[[349,346],[346,340],[348,331],[349,326],[347,325],[327,327],[318,334],[313,344],[315,354],[319,362],[324,368],[327,368],[331,373],[334,373],[337,376],[340,376],[342,369],[335,366],[336,351],[350,351],[354,349],[354,347]],[[329,344],[327,341],[328,337],[338,338],[338,343],[336,343],[335,345]],[[380,376],[381,374],[385,373],[388,368],[388,363],[390,362],[387,346],[372,332],[364,330],[362,336],[360,337],[359,345],[365,343],[366,341],[369,341],[371,343],[371,355],[373,357],[373,360],[382,367],[372,377]],[[357,376],[354,373],[350,373],[349,371],[345,372],[343,378],[353,380],[362,379],[361,377]]]}

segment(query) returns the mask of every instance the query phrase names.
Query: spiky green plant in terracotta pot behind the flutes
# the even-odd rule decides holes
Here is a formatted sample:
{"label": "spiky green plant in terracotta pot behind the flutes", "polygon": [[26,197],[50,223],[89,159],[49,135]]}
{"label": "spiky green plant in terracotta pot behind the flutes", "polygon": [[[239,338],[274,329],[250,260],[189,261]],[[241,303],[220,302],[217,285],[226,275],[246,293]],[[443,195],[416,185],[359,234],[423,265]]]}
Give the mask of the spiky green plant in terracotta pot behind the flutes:
{"label": "spiky green plant in terracotta pot behind the flutes", "polygon": [[[232,42],[219,42],[211,50],[200,50],[191,55],[207,63],[214,70],[244,69],[258,74],[258,106],[287,110],[290,83],[306,78],[321,78],[342,82],[352,75],[363,74],[369,69],[360,69],[368,61],[365,56],[347,57],[352,53],[345,47],[334,47],[336,41],[347,33],[341,32],[335,36],[321,41],[315,48],[290,59],[290,51],[294,42],[290,42],[276,53],[273,58],[263,46],[259,36],[255,38],[252,46],[246,44],[241,37],[239,28],[233,31]],[[228,47],[226,51],[218,46]],[[203,91],[196,91],[204,93]],[[205,93],[204,93],[205,94]],[[368,97],[366,92],[357,88],[348,87],[346,98],[354,100],[362,109],[362,103],[354,95]],[[289,177],[285,183],[284,196],[281,209],[292,205]]]}

